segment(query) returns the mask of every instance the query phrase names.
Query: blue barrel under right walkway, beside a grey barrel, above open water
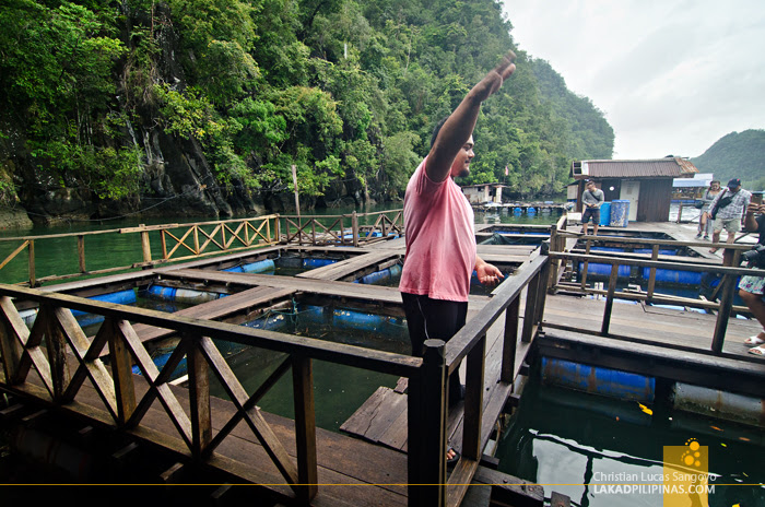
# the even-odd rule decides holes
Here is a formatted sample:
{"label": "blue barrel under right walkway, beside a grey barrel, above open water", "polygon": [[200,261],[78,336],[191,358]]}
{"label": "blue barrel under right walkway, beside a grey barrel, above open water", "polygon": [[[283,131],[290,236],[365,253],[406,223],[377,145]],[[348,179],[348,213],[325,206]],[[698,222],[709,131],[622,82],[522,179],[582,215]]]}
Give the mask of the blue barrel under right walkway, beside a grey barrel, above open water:
{"label": "blue barrel under right walkway, beside a grey barrel, above open water", "polygon": [[652,402],[656,379],[617,369],[542,357],[542,380],[577,391]]}

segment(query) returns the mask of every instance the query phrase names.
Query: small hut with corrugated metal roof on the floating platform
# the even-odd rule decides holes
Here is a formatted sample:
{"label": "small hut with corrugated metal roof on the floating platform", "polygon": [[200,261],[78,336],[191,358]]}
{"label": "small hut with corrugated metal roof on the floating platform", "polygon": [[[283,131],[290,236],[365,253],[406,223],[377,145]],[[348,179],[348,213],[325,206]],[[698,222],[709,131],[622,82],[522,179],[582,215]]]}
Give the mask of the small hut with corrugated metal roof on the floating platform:
{"label": "small hut with corrugated metal roof on the floating platform", "polygon": [[668,222],[674,178],[692,178],[698,173],[687,158],[636,161],[575,161],[570,176],[578,184],[577,211],[587,180],[603,190],[607,201],[629,201],[631,222]]}

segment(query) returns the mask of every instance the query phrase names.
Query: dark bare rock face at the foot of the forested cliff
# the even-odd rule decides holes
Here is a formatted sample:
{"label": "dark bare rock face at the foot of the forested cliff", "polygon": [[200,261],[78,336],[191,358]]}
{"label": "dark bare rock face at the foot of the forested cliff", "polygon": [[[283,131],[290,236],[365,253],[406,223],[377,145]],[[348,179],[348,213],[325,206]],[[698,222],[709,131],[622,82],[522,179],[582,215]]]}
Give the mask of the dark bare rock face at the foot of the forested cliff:
{"label": "dark bare rock face at the foot of the forested cliff", "polygon": [[[129,40],[131,14],[127,11],[125,14],[122,38]],[[155,36],[161,52],[156,61],[157,75],[153,79],[158,83],[169,83],[173,90],[183,91],[186,76],[177,60],[178,35],[169,21],[168,8],[157,4],[154,15],[156,23],[152,25],[156,26]],[[161,19],[165,22],[157,21]],[[142,22],[144,25],[150,23],[148,20]],[[192,55],[190,57],[193,59]],[[121,69],[118,74],[125,70]],[[115,106],[127,111],[125,95],[125,90],[117,90]],[[89,181],[48,170],[46,161],[35,158],[26,148],[23,119],[11,119],[0,111],[0,127],[4,134],[0,135],[0,202],[5,209],[12,204],[13,210],[3,212],[0,226],[5,223],[28,226],[32,222],[51,224],[126,215],[211,219],[295,211],[292,193],[252,191],[236,180],[221,185],[200,143],[196,139],[166,132],[157,120],[160,111],[150,102],[130,113],[125,115],[130,120],[122,129],[122,137],[116,141],[101,142],[140,148],[144,167],[141,190],[137,196],[110,200],[92,191]],[[3,194],[3,189],[9,191]],[[336,181],[327,189],[326,196],[301,197],[301,209],[331,207],[350,199],[361,203],[363,190],[355,180]],[[23,219],[24,210],[28,214],[26,220]]]}

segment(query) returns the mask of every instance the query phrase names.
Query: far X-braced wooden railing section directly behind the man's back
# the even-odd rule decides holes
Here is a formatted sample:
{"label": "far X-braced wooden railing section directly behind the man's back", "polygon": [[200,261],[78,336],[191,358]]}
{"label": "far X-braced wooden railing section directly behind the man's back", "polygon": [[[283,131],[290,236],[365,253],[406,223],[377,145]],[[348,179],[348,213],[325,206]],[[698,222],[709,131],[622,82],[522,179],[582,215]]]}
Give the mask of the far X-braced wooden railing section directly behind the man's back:
{"label": "far X-braced wooden railing section directly behind the man's back", "polygon": [[[403,234],[403,210],[344,215],[281,215],[282,243],[298,245],[348,245],[380,241]],[[363,224],[361,222],[370,222]]]}

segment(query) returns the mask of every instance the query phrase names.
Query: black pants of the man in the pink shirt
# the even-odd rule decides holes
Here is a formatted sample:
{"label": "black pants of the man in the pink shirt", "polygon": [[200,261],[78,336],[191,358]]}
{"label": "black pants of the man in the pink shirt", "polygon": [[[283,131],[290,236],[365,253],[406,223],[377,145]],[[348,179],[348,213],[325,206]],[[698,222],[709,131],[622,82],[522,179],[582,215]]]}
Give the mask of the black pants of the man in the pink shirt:
{"label": "black pants of the man in the pink shirt", "polygon": [[[425,340],[448,342],[459,331],[468,317],[468,303],[431,299],[427,296],[401,293],[407,314],[412,355],[423,355]],[[449,376],[449,404],[463,397],[459,379],[459,367]]]}

